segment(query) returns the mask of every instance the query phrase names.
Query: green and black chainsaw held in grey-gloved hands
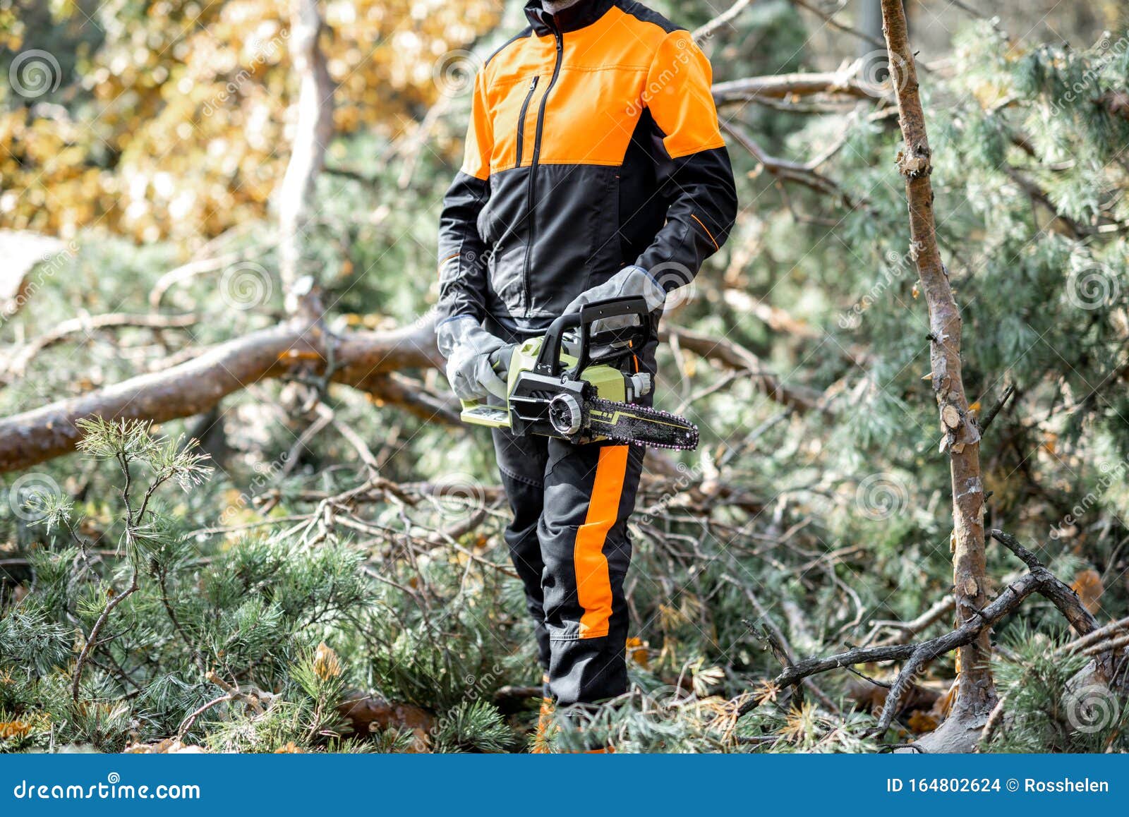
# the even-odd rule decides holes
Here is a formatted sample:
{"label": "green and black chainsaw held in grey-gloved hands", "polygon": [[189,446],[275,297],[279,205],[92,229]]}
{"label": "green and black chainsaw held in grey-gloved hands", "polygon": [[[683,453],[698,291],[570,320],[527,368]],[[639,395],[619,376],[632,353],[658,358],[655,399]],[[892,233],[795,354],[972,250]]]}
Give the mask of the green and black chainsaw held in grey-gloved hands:
{"label": "green and black chainsaw held in grey-gloved hands", "polygon": [[[594,332],[614,318],[613,330]],[[612,298],[557,318],[543,336],[514,349],[505,405],[463,401],[463,422],[543,434],[572,443],[610,440],[694,449],[698,427],[676,414],[637,405],[654,383],[636,352],[651,340],[642,298]]]}

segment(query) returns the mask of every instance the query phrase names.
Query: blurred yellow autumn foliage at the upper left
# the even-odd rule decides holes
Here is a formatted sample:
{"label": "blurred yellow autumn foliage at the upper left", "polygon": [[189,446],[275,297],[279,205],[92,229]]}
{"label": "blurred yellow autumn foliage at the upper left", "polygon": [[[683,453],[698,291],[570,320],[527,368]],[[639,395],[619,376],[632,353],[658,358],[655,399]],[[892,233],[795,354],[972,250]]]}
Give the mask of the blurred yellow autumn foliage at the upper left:
{"label": "blurred yellow autumn foliage at the upper left", "polygon": [[[64,237],[98,226],[148,241],[263,217],[295,122],[289,5],[126,0],[90,20],[72,2],[55,6],[76,37],[87,26],[105,37],[43,58],[59,81],[50,96],[0,89],[0,223]],[[330,0],[320,10],[338,132],[394,139],[439,98],[449,54],[490,28],[500,5]],[[11,18],[0,18],[6,44],[30,51],[18,12],[0,14]]]}

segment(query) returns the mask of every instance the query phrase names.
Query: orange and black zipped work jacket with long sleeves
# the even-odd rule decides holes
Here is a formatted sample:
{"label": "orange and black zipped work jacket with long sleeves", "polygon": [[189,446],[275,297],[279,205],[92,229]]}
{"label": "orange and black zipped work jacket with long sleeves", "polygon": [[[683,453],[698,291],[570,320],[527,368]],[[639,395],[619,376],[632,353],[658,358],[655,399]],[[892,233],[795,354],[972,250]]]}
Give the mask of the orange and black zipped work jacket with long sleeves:
{"label": "orange and black zipped work jacket with long sleeves", "polygon": [[629,264],[671,290],[736,213],[710,64],[685,29],[632,0],[525,14],[475,78],[439,225],[440,323],[543,330]]}

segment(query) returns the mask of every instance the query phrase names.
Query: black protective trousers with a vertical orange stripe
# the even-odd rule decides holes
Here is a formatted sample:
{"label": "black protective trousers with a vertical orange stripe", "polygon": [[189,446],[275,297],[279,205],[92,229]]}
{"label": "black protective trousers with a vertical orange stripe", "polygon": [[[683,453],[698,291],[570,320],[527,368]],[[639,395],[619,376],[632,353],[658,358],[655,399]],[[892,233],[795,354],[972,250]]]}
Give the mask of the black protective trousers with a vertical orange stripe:
{"label": "black protective trousers with a vertical orange stripe", "polygon": [[631,562],[627,522],[644,449],[574,446],[502,429],[495,430],[493,440],[514,512],[506,543],[525,585],[552,696],[567,706],[623,694],[623,580]]}

